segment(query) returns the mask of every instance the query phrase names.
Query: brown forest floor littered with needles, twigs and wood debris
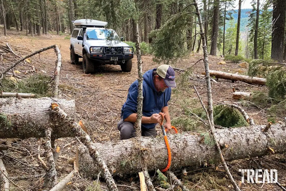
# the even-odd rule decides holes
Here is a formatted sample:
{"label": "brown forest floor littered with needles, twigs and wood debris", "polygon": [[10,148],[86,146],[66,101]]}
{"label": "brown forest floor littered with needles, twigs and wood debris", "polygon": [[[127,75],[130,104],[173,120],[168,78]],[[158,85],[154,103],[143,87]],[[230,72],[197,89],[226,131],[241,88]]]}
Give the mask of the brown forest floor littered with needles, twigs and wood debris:
{"label": "brown forest floor littered with needles, twigs and wood debris", "polygon": [[[0,27],[1,34],[3,34],[3,28]],[[70,51],[69,51],[69,36],[56,35],[51,32],[49,35],[41,36],[25,36],[24,32],[17,32],[15,30],[9,30],[8,36],[0,36],[0,45],[9,43],[12,47],[18,47],[17,52],[21,52],[20,56],[29,54],[29,51],[38,50],[43,47],[47,47],[53,44],[57,44],[60,48],[62,55],[62,68],[60,73],[60,90],[62,92],[63,99],[73,99],[76,103],[76,116],[77,121],[83,120],[88,132],[90,133],[94,141],[112,141],[117,140],[120,137],[117,129],[117,122],[120,120],[121,107],[126,101],[128,88],[132,82],[137,79],[137,60],[136,56],[133,58],[132,71],[125,73],[122,72],[120,66],[106,65],[96,68],[93,74],[87,75],[83,73],[82,62],[80,59],[79,65],[70,64]],[[27,51],[28,50],[28,51]],[[203,58],[202,53],[189,54],[187,57],[178,60],[173,63],[173,67],[187,69],[192,66],[196,61]],[[40,61],[39,61],[40,60]],[[56,55],[53,50],[42,52],[39,55],[33,56],[30,59],[30,65],[34,65],[38,68],[44,69],[48,73],[53,73],[55,68]],[[224,72],[246,74],[247,69],[238,67],[238,64],[226,62],[226,64],[219,65],[218,62],[222,61],[222,57],[209,56],[209,67],[210,70],[219,70]],[[3,60],[0,66],[9,60]],[[142,56],[143,61],[143,72],[156,68],[160,64],[153,61],[151,55]],[[9,61],[11,62],[11,61]],[[1,67],[2,68],[2,67]],[[204,71],[203,61],[198,62],[192,67],[192,73],[201,74]],[[206,82],[204,80],[186,80],[184,74],[176,72],[176,82],[178,88],[173,89],[172,97],[169,101],[169,110],[172,122],[176,122],[176,127],[180,132],[195,132],[208,129],[201,125],[196,127],[194,125],[186,125],[176,121],[178,118],[186,117],[186,108],[194,109],[200,108],[200,103],[193,90],[193,85],[196,86],[200,95],[203,97],[204,103],[206,104]],[[262,91],[267,92],[266,86],[250,85],[243,82],[231,82],[229,80],[217,80],[218,83],[212,82],[212,99],[214,105],[223,103],[224,101],[234,102],[232,98],[233,88],[237,91],[253,92]],[[269,115],[265,109],[255,107],[253,105],[243,104],[243,109],[254,119],[256,124],[267,124]],[[157,127],[157,133],[161,133],[161,129]],[[63,138],[55,141],[56,145],[61,147],[61,154],[59,155],[58,162],[56,164],[58,177],[61,180],[66,176],[72,169],[73,163],[70,164],[68,161],[74,157],[74,151],[76,143],[74,138]],[[3,140],[4,141],[4,140]],[[6,140],[7,141],[7,140]],[[19,141],[15,144],[29,145],[30,147],[37,148],[41,140],[27,139]],[[70,143],[70,144],[68,144]],[[12,143],[13,145],[14,143]],[[14,145],[15,145],[14,144]],[[65,146],[65,147],[64,147]],[[8,151],[10,155],[13,155],[13,151]],[[15,154],[17,158],[21,157],[21,154]],[[277,169],[278,181],[280,184],[286,184],[286,165],[285,165],[285,154],[284,155],[271,155],[265,157],[247,158],[243,160],[235,160],[228,162],[231,173],[237,184],[240,185],[242,190],[281,190],[275,184],[241,184],[241,174],[237,172],[237,169],[260,169],[259,164],[263,168]],[[279,158],[279,159],[278,159]],[[39,166],[37,157],[25,158],[30,164]],[[39,190],[39,187],[43,185],[43,177],[32,178],[31,169],[17,164],[17,162],[11,160],[4,160],[4,164],[8,171],[9,176],[15,177],[14,182],[24,188],[24,190]],[[212,166],[212,164],[208,164]],[[40,168],[40,167],[39,167]],[[223,166],[219,166],[222,170]],[[198,171],[199,173],[202,171]],[[212,168],[204,170],[208,174],[214,174],[217,178],[227,178],[226,173],[222,171],[214,171]],[[194,174],[196,174],[194,173]],[[17,176],[25,175],[27,178],[23,180],[17,179]],[[228,178],[227,178],[228,180]],[[134,175],[130,176],[129,179],[116,179],[116,183],[120,185],[128,185],[130,187],[118,186],[120,190],[140,190],[139,178]],[[198,182],[193,182],[198,184]],[[193,185],[194,185],[193,184]],[[199,185],[199,184],[198,184]],[[74,183],[68,186],[65,190],[98,190],[98,186],[102,190],[107,190],[104,181],[100,183],[97,180],[84,178],[79,175],[74,177]],[[223,190],[233,190],[230,182],[225,182],[221,185]],[[17,190],[15,186],[11,185],[13,190]],[[193,188],[190,186],[190,188]],[[197,189],[197,188],[196,188]],[[219,188],[212,188],[213,190],[219,190]]]}

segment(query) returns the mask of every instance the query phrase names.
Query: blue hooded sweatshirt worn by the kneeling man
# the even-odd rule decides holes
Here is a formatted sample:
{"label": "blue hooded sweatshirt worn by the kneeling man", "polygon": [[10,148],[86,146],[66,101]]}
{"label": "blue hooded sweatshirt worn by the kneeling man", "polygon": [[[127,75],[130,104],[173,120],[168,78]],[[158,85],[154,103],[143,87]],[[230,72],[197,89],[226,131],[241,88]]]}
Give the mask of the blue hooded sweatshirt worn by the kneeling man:
{"label": "blue hooded sweatshirt worn by the kneeling man", "polygon": [[[157,92],[152,72],[156,68],[148,70],[143,75],[143,107],[142,114],[150,117],[154,113],[160,113],[162,108],[168,106],[171,98],[171,88],[166,88],[164,92]],[[138,80],[133,82],[128,90],[127,100],[122,106],[121,117],[126,119],[132,113],[137,113]],[[142,129],[152,129],[155,123],[142,123]]]}

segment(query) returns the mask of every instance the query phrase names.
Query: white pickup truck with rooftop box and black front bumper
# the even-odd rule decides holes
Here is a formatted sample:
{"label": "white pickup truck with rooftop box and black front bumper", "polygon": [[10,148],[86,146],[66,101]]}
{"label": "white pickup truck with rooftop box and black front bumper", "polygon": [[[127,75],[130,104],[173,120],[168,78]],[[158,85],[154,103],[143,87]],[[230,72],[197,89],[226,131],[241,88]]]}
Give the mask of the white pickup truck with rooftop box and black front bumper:
{"label": "white pickup truck with rooftop box and black front bumper", "polygon": [[98,65],[120,65],[123,72],[132,69],[134,48],[122,42],[112,29],[106,29],[107,22],[92,19],[74,21],[74,30],[70,38],[71,64],[78,64],[82,58],[84,73],[94,72]]}

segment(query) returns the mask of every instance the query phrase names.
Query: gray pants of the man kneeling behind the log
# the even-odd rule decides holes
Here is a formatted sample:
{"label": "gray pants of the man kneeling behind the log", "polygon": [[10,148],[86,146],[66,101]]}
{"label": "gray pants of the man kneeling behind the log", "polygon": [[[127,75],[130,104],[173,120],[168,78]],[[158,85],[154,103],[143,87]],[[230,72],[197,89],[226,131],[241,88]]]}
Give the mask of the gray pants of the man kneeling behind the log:
{"label": "gray pants of the man kneeling behind the log", "polygon": [[[120,139],[130,139],[135,137],[134,123],[129,121],[123,121],[123,118],[117,123],[117,128],[120,131]],[[141,128],[142,136],[156,136],[156,128],[153,129],[143,129]]]}

